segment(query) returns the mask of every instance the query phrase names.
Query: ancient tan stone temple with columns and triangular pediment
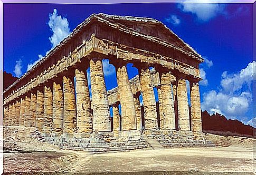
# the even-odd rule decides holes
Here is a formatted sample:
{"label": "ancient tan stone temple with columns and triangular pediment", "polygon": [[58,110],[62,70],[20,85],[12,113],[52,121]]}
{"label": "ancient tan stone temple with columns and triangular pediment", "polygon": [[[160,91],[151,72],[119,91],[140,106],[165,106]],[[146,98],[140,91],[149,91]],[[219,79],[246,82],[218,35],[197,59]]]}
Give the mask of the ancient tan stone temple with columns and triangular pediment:
{"label": "ancient tan stone temple with columns and triangular pediment", "polygon": [[[109,91],[102,59],[116,67]],[[93,14],[4,91],[4,123],[92,152],[212,146],[202,132],[202,62],[155,19]],[[138,69],[131,79],[128,63]]]}

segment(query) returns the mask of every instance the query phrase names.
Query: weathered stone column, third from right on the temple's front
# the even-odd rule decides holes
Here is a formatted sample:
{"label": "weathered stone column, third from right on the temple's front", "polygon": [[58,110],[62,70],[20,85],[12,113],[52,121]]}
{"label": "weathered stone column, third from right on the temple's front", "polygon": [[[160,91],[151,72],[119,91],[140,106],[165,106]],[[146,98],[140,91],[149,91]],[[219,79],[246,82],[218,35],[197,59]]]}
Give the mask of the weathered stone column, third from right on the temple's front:
{"label": "weathered stone column, third from right on the temple's front", "polygon": [[175,129],[175,113],[172,91],[172,82],[175,81],[175,77],[167,72],[162,73],[160,79],[163,96],[163,129]]}

